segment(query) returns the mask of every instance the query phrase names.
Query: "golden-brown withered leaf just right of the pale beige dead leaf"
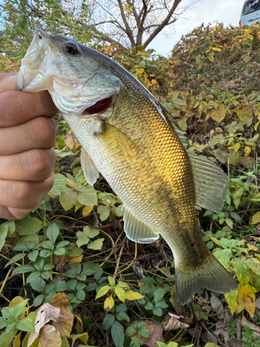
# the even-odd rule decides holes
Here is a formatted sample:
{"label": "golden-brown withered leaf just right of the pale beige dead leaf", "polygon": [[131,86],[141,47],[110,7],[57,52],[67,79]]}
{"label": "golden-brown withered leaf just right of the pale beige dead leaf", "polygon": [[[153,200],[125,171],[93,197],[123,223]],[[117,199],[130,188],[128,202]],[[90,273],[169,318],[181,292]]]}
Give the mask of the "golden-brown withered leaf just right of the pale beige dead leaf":
{"label": "golden-brown withered leaf just right of the pale beige dead leaf", "polygon": [[60,332],[60,336],[67,336],[71,334],[73,326],[73,314],[69,310],[69,298],[65,293],[58,293],[50,301],[53,307],[60,310],[58,320],[53,321],[52,325]]}

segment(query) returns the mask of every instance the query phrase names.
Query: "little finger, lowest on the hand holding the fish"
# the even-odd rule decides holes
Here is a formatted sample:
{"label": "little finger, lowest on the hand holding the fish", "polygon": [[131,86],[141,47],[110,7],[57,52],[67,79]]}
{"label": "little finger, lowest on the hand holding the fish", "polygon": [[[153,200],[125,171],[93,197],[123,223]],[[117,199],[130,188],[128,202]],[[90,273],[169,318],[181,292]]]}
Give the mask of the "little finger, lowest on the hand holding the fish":
{"label": "little finger, lowest on the hand holding the fish", "polygon": [[[53,187],[54,174],[40,182],[0,180],[0,205],[21,210],[34,210]],[[10,211],[11,212],[11,211]],[[12,213],[12,212],[11,212]]]}

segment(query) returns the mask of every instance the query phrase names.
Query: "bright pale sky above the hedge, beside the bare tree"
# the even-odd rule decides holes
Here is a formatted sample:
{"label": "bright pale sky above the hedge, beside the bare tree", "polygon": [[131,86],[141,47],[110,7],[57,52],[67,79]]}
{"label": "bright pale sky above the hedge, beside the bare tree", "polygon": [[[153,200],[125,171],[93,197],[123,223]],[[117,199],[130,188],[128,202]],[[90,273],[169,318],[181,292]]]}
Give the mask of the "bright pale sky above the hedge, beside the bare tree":
{"label": "bright pale sky above the hedge, beside the bare tree", "polygon": [[[187,3],[189,0],[183,0]],[[191,33],[194,28],[202,24],[223,23],[224,26],[239,26],[239,20],[245,0],[200,0],[193,8],[184,12],[178,19],[173,29],[164,29],[164,34],[159,34],[149,44],[148,49],[155,49],[156,53],[168,56],[173,46],[180,40],[182,35]]]}

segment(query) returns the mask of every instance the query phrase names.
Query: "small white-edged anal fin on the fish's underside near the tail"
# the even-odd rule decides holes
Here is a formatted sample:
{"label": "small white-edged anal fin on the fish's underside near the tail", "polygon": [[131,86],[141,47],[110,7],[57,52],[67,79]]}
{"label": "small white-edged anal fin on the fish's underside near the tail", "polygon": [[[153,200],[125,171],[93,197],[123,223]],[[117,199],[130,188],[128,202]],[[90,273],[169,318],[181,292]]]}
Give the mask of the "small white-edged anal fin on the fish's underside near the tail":
{"label": "small white-edged anal fin on the fish's underside near the tail", "polygon": [[150,228],[144,221],[141,221],[136,214],[125,208],[123,215],[125,234],[131,241],[139,244],[150,244],[159,239],[159,234]]}

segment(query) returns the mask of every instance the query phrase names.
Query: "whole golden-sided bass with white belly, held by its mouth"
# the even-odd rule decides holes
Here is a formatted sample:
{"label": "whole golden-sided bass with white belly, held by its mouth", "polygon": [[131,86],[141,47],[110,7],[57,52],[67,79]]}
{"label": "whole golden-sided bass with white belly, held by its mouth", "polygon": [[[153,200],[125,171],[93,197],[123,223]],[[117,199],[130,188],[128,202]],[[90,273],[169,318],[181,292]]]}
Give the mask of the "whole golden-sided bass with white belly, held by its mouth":
{"label": "whole golden-sided bass with white belly, held by its mouth", "polygon": [[199,289],[227,293],[236,280],[202,240],[194,205],[220,212],[228,178],[189,151],[184,130],[135,76],[70,37],[36,29],[18,90],[48,90],[82,146],[89,185],[103,175],[124,208],[133,242],[166,241],[175,262],[177,301]]}

